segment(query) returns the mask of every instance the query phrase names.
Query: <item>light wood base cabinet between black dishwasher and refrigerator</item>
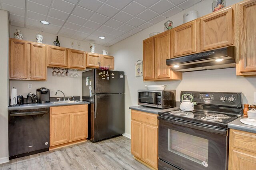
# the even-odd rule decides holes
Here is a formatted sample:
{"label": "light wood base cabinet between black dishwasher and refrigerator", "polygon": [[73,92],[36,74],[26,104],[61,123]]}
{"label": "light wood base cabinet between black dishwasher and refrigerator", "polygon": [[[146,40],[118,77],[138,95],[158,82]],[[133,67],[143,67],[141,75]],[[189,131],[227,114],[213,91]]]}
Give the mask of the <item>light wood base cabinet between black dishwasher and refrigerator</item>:
{"label": "light wood base cabinet between black dishwasher and refrigerator", "polygon": [[86,140],[88,105],[50,107],[50,149]]}

